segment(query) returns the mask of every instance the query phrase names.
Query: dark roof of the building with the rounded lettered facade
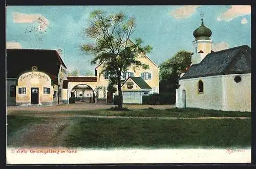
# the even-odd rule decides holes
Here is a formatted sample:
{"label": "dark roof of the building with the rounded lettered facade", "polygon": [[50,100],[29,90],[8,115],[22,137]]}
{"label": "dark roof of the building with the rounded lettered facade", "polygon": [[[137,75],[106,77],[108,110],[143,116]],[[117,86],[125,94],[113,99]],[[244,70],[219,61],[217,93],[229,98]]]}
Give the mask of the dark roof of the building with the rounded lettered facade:
{"label": "dark roof of the building with the rounded lettered facade", "polygon": [[32,66],[36,66],[38,71],[58,76],[60,65],[67,68],[56,50],[6,49],[7,78],[17,78]]}

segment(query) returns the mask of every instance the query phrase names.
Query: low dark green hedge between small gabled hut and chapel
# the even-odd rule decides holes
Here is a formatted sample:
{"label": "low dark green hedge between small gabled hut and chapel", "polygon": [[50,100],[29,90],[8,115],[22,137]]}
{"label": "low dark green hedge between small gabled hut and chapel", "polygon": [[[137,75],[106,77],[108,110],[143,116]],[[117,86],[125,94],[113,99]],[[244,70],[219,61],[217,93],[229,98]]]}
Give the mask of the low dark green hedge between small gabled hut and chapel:
{"label": "low dark green hedge between small gabled hut and chapel", "polygon": [[142,96],[142,104],[175,104],[176,95],[173,93],[151,94]]}

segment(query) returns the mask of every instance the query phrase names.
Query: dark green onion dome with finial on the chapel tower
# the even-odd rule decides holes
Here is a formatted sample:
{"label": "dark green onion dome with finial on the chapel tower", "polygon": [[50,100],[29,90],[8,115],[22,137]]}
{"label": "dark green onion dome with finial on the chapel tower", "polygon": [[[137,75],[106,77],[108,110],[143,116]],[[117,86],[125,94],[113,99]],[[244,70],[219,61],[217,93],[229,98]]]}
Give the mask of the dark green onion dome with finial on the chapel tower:
{"label": "dark green onion dome with finial on the chapel tower", "polygon": [[194,37],[196,40],[201,40],[201,39],[207,39],[210,40],[211,36],[211,30],[206,27],[203,23],[203,17],[201,18],[201,25],[193,32]]}

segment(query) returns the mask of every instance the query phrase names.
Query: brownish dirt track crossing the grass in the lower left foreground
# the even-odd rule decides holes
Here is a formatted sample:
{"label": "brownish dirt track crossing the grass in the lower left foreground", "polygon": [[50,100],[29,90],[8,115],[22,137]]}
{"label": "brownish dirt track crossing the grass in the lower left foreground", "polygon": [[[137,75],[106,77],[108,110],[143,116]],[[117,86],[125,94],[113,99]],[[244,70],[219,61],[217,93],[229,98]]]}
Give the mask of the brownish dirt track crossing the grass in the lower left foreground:
{"label": "brownish dirt track crossing the grass in the lower left foreground", "polygon": [[72,125],[69,118],[50,118],[41,124],[31,124],[8,136],[13,147],[61,147]]}

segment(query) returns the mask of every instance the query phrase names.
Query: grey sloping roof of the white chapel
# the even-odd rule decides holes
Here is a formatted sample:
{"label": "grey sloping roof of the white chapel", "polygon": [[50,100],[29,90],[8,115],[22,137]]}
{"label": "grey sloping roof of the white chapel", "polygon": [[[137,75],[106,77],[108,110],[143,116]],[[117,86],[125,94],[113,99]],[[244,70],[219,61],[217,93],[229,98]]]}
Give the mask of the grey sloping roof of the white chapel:
{"label": "grey sloping roof of the white chapel", "polygon": [[211,52],[199,63],[192,65],[181,77],[251,73],[251,48],[248,45]]}

